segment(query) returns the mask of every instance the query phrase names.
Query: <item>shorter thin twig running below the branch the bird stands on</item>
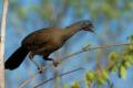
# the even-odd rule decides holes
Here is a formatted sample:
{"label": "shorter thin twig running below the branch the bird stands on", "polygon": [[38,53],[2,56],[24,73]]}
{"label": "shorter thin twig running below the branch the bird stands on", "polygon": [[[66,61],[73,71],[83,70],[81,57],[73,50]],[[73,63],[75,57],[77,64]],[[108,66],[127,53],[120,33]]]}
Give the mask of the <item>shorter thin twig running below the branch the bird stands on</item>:
{"label": "shorter thin twig running below the branch the bird stands on", "polygon": [[[62,77],[62,76],[65,76],[65,75],[68,75],[68,74],[74,73],[74,72],[76,72],[76,70],[81,70],[81,69],[84,69],[84,68],[80,67],[80,68],[70,70],[70,72],[66,72],[66,73],[64,73],[64,74],[61,74],[60,76]],[[42,86],[42,85],[44,85],[44,84],[47,84],[47,82],[49,82],[49,81],[51,81],[51,80],[53,80],[53,79],[54,79],[54,77],[52,77],[52,78],[50,78],[50,79],[48,79],[48,80],[44,80],[44,81],[35,85],[33,88],[38,88],[38,87],[40,87],[40,86]]]}

